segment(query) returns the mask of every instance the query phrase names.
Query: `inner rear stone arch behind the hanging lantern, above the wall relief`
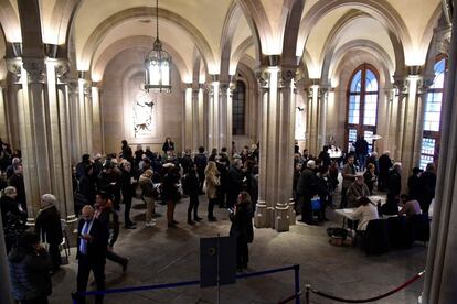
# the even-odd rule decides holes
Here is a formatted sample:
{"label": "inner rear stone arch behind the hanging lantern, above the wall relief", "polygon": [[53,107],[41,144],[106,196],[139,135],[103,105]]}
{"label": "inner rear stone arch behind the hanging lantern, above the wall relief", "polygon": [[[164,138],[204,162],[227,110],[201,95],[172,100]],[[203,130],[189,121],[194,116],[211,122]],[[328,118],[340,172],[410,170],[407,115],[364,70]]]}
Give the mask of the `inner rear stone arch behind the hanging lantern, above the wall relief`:
{"label": "inner rear stone arch behind the hanging lantern, above the wall relief", "polygon": [[[182,57],[179,55],[177,51],[174,51],[169,44],[163,43],[163,46],[167,51],[170,52],[171,56],[173,57],[173,64],[176,65],[181,79],[184,79],[185,75],[191,75],[191,72],[189,67],[185,65]],[[105,67],[108,65],[108,63],[120,52],[131,48],[131,47],[138,47],[138,46],[145,46],[146,48],[151,48],[151,37],[150,36],[129,36],[125,37],[123,40],[116,41],[111,45],[109,45],[107,48],[104,50],[104,52],[99,55],[97,62],[93,62],[93,65],[91,66],[91,75],[104,75]]]}

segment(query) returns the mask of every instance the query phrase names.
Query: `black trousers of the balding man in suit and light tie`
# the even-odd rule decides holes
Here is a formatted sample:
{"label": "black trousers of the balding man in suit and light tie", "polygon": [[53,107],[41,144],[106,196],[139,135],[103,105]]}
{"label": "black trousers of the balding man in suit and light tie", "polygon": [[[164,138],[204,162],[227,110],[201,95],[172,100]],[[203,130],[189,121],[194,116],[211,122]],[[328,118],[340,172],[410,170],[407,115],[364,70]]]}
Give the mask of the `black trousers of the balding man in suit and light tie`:
{"label": "black trousers of the balding man in suit and light tie", "polygon": [[[87,281],[91,271],[94,273],[97,291],[105,290],[105,262],[94,262],[87,257],[81,256],[77,264],[77,291],[85,292],[87,290]],[[85,296],[79,296],[78,304],[85,303]],[[95,303],[103,303],[103,295],[95,296]]]}

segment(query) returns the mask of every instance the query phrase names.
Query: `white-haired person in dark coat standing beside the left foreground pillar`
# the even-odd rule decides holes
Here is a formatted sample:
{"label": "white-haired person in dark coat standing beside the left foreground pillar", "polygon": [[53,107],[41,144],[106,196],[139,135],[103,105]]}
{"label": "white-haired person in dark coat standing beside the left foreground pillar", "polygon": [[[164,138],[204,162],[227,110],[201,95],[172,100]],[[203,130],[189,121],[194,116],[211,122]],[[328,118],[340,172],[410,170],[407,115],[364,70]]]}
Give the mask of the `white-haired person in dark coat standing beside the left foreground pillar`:
{"label": "white-haired person in dark coat standing beside the left foreground pillar", "polygon": [[44,194],[41,197],[40,213],[35,220],[35,234],[50,245],[52,270],[55,272],[61,268],[62,258],[59,245],[62,242],[61,214],[55,207],[57,198],[52,194]]}

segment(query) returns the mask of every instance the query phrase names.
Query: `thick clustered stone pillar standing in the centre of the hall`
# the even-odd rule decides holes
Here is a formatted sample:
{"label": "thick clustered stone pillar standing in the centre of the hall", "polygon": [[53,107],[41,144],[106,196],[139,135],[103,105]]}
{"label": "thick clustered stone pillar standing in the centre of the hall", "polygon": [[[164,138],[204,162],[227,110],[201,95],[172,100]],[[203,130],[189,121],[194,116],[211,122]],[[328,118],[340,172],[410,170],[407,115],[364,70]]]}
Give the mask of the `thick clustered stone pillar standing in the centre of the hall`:
{"label": "thick clustered stone pillar standing in the centre of the hall", "polygon": [[[293,191],[295,70],[269,66],[259,75],[262,126],[257,228],[289,230],[289,199]],[[281,82],[279,82],[281,79]]]}

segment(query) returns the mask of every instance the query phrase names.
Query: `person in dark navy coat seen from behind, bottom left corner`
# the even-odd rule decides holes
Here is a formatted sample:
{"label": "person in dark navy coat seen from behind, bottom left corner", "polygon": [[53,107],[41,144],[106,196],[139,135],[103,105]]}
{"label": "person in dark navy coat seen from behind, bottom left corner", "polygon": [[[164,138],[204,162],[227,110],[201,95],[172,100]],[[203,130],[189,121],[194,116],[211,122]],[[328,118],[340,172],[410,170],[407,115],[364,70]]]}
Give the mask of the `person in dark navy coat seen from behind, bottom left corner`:
{"label": "person in dark navy coat seen from behind, bottom left corner", "polygon": [[[24,232],[8,256],[12,295],[22,304],[47,304],[52,262],[36,234]],[[7,282],[2,282],[7,283]]]}

